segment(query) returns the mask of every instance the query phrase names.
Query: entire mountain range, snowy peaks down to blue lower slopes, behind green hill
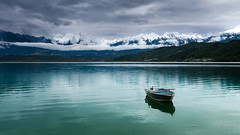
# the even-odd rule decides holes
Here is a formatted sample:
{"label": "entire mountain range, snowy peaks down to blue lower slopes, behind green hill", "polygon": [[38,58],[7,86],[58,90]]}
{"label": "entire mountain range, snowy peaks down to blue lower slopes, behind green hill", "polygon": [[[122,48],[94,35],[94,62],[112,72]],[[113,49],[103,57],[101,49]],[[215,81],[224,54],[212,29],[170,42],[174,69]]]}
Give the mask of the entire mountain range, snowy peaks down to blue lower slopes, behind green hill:
{"label": "entire mountain range, snowy peaks down to blue lower slopes, behind green hill", "polygon": [[[238,31],[225,31],[207,35],[164,33],[160,36],[156,33],[150,33],[106,40],[86,34],[56,34],[52,38],[46,38],[0,30],[0,60],[24,60],[30,58],[30,56],[34,56],[34,59],[44,57],[46,61],[50,57],[52,57],[50,58],[52,60],[65,59],[66,61],[72,59],[78,61],[110,60],[117,57],[121,59],[123,55],[129,56],[130,54],[161,47],[182,46],[189,43],[227,43],[239,39],[240,32]],[[158,60],[160,59],[158,58]]]}

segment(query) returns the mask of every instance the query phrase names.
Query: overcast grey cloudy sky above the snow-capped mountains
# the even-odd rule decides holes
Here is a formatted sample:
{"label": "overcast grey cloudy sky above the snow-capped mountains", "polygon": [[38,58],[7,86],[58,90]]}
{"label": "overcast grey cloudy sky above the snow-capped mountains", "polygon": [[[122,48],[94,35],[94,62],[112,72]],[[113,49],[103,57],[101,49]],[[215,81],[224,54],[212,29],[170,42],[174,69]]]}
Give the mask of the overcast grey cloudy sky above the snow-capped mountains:
{"label": "overcast grey cloudy sky above the snow-capped mountains", "polygon": [[217,33],[240,24],[240,0],[0,0],[0,29],[43,35]]}

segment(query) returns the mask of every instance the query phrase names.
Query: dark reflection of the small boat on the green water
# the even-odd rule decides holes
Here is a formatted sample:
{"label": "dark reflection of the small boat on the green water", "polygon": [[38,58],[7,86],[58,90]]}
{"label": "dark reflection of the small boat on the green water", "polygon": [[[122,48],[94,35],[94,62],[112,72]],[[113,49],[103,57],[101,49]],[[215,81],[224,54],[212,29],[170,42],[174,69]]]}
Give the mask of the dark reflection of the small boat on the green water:
{"label": "dark reflection of the small boat on the green water", "polygon": [[145,102],[148,103],[148,105],[153,109],[158,109],[165,113],[170,113],[171,115],[175,112],[175,107],[173,105],[173,102],[158,102],[153,99],[151,99],[149,96],[146,96]]}

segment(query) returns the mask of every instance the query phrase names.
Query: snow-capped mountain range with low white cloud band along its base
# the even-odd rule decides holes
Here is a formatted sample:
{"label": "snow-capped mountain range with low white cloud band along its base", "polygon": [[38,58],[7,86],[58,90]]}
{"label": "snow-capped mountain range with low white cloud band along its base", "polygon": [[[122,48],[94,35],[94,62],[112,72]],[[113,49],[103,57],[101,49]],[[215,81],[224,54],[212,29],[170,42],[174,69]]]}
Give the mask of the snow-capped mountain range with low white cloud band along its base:
{"label": "snow-capped mountain range with low white cloud band along its base", "polygon": [[164,46],[179,46],[190,42],[228,42],[237,39],[240,39],[239,27],[218,34],[200,35],[167,32],[158,35],[149,33],[114,40],[97,39],[89,34],[82,33],[55,34],[52,39],[47,39],[0,31],[0,41],[2,42],[60,51],[153,49]]}

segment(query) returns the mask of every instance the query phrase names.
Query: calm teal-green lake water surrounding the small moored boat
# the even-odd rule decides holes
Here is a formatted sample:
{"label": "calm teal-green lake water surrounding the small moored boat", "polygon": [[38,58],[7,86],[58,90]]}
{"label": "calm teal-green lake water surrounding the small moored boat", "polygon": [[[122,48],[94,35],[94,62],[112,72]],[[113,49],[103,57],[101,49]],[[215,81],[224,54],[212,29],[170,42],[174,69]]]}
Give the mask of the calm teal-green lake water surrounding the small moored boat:
{"label": "calm teal-green lake water surrounding the small moored boat", "polygon": [[[175,88],[172,103],[144,88]],[[0,135],[239,135],[240,66],[1,63]]]}

